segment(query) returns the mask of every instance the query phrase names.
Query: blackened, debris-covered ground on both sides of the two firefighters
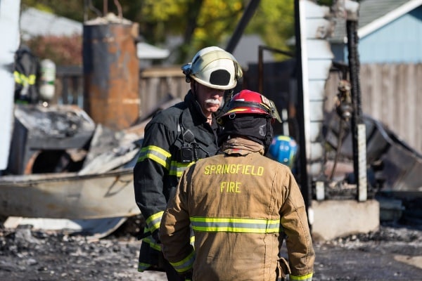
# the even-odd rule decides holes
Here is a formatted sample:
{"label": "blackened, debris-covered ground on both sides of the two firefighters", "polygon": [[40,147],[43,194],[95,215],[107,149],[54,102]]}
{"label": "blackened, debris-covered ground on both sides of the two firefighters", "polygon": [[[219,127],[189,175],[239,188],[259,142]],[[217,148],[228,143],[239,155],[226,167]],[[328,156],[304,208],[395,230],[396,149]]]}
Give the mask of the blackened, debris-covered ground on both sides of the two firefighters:
{"label": "blackened, debris-covered ground on both sides of the two firefighters", "polygon": [[[0,280],[166,280],[164,273],[136,271],[141,241],[129,228],[125,223],[101,240],[0,228]],[[422,226],[383,225],[314,248],[313,280],[422,280]]]}

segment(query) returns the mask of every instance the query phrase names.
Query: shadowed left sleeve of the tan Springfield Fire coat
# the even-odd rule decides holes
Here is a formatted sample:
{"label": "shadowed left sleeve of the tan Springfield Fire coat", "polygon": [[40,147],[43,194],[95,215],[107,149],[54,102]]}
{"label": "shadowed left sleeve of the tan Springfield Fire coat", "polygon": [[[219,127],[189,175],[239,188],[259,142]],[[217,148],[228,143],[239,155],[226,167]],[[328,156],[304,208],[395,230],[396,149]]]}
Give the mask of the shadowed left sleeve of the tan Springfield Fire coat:
{"label": "shadowed left sleeve of the tan Springfield Fire coat", "polygon": [[188,180],[187,169],[179,185],[167,204],[160,226],[162,253],[178,273],[184,274],[192,269],[195,253],[191,245],[191,221],[187,209]]}

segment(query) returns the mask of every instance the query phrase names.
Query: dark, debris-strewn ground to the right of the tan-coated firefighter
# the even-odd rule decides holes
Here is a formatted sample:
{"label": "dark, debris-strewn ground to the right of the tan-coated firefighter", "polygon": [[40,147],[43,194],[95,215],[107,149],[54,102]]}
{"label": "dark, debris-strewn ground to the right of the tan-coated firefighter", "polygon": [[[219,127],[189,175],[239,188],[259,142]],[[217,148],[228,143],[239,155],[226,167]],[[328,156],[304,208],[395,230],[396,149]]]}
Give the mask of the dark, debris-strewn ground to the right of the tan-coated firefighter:
{"label": "dark, debris-strewn ground to the right of the tan-coated firefighter", "polygon": [[312,280],[420,280],[422,226],[381,225],[360,233],[314,244]]}

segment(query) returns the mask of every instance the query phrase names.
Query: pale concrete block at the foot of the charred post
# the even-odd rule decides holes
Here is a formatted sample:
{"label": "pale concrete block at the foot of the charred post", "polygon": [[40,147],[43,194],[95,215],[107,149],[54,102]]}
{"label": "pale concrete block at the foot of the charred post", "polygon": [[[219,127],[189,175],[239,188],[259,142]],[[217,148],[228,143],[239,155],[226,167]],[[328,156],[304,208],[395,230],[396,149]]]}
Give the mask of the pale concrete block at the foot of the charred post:
{"label": "pale concrete block at the foot of the charred post", "polygon": [[380,205],[376,200],[313,200],[309,214],[315,241],[369,233],[380,226]]}

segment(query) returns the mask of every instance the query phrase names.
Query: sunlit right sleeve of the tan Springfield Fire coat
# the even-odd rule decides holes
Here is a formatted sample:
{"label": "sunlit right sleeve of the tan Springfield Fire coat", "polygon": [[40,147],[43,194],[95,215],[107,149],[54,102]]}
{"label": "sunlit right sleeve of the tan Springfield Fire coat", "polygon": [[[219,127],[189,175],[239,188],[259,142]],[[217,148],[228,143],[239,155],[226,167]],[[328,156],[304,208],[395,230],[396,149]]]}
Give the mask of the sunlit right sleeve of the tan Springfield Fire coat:
{"label": "sunlit right sleeve of the tan Springfield Fire coat", "polygon": [[290,170],[283,173],[284,203],[281,226],[286,234],[286,246],[291,270],[290,280],[312,280],[315,252],[309,231],[305,202]]}

